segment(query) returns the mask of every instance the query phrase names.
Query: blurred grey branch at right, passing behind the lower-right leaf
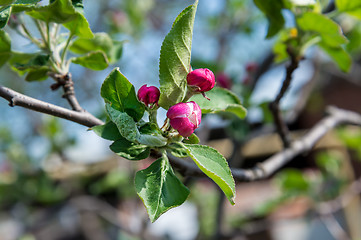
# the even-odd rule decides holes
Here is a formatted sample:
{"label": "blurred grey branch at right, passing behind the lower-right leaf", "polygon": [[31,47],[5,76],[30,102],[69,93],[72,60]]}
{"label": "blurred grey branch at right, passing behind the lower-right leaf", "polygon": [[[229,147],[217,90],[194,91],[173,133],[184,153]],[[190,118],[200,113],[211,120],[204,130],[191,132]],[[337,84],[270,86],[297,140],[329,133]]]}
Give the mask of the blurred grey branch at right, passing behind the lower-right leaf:
{"label": "blurred grey branch at right, passing behind the lower-right leaf", "polygon": [[[296,156],[309,152],[316,143],[330,130],[340,124],[361,125],[361,115],[352,111],[329,107],[328,117],[317,123],[305,136],[295,140],[290,147],[273,155],[256,167],[251,169],[232,168],[236,181],[255,181],[264,179],[275,173],[282,166]],[[187,176],[204,176],[202,171],[193,163],[174,157],[169,158],[172,165]]]}

